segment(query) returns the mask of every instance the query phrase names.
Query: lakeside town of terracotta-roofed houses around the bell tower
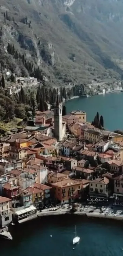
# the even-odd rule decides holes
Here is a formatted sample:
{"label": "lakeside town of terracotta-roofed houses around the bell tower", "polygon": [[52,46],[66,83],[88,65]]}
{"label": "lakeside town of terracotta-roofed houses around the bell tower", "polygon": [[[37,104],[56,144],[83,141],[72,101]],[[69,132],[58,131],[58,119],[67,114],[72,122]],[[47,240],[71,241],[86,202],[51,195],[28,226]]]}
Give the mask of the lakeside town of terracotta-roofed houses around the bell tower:
{"label": "lakeside town of terracotta-roofed houses around the bell tower", "polygon": [[123,219],[123,135],[86,119],[82,110],[62,116],[57,95],[54,111],[0,138],[0,234],[50,214]]}

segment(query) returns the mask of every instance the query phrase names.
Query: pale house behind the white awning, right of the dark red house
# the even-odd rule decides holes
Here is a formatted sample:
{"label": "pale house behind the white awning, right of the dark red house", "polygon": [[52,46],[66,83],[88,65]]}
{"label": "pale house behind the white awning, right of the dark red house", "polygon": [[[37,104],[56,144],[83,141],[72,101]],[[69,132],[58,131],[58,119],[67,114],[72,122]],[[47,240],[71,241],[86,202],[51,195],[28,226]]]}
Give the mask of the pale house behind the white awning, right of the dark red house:
{"label": "pale house behind the white awning, right of the dark red house", "polygon": [[19,188],[19,199],[20,199],[20,206],[30,207],[32,205],[32,193]]}

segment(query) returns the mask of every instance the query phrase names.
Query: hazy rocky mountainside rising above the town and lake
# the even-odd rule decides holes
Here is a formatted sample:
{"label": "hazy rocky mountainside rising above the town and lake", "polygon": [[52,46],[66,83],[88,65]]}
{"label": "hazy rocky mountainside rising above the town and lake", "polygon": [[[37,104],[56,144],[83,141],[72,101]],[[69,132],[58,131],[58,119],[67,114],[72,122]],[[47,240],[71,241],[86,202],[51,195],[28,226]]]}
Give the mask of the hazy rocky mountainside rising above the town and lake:
{"label": "hazy rocky mountainside rising above the town and lake", "polygon": [[1,0],[0,62],[28,75],[8,43],[52,85],[123,78],[123,0]]}

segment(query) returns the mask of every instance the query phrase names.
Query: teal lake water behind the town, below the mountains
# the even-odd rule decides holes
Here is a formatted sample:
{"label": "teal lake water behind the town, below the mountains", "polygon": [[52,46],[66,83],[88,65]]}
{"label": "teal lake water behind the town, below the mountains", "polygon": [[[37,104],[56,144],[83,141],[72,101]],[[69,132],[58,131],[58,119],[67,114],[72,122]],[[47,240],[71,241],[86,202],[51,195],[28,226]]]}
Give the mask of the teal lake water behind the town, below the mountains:
{"label": "teal lake water behind the town, below the mountains", "polygon": [[67,113],[78,109],[85,111],[89,122],[98,111],[103,115],[105,129],[123,130],[123,92],[73,99],[66,102],[66,107]]}

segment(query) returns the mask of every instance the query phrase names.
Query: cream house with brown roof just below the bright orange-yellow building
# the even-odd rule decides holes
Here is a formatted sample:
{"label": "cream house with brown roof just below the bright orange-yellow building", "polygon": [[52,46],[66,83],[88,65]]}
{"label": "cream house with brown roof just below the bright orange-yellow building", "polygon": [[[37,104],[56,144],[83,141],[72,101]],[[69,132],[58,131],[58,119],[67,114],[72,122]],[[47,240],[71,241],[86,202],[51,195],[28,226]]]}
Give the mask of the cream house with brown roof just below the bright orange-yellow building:
{"label": "cream house with brown roof just below the bright orange-yellow building", "polygon": [[27,157],[27,150],[24,148],[11,147],[9,150],[9,158],[20,160]]}

